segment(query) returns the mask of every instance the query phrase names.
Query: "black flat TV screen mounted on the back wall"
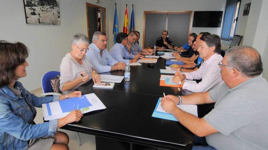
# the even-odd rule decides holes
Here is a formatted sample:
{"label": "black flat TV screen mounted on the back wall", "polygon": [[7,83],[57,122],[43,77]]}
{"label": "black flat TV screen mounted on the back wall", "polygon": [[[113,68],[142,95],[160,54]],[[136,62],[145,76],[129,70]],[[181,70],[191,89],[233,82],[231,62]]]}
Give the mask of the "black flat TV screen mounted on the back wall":
{"label": "black flat TV screen mounted on the back wall", "polygon": [[195,11],[193,27],[220,27],[222,11]]}

